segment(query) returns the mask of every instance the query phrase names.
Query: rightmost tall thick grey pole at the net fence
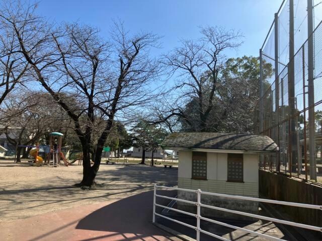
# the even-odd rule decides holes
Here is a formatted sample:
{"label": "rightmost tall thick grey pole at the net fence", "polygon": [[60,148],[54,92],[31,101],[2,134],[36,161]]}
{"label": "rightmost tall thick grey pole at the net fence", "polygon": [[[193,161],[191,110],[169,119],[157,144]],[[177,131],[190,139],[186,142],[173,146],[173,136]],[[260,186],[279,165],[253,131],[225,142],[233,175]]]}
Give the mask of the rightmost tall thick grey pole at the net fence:
{"label": "rightmost tall thick grey pole at the net fence", "polygon": [[314,125],[314,53],[313,53],[313,0],[307,0],[307,74],[308,74],[308,137],[310,179],[316,181],[315,125]]}

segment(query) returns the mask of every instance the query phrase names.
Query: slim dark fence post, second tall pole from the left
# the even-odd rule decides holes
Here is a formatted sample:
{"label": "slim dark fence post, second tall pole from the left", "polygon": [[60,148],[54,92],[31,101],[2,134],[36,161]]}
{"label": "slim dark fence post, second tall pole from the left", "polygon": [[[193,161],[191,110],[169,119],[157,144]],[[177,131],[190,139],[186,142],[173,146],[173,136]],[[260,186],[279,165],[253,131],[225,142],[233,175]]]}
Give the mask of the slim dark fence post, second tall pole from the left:
{"label": "slim dark fence post, second tall pole from the left", "polygon": [[[275,142],[278,146],[280,146],[280,138],[279,138],[279,69],[278,69],[278,14],[276,13],[274,16],[274,37],[275,37]],[[276,171],[280,171],[280,153],[278,152],[276,157]]]}

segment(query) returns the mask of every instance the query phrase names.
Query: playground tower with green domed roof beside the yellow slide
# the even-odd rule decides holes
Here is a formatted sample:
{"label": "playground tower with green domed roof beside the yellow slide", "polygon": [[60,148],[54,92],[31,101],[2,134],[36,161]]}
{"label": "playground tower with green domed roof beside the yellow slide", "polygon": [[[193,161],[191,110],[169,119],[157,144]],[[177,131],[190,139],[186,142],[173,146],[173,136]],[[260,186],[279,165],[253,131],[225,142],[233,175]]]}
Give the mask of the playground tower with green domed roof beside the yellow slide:
{"label": "playground tower with green domed roof beside the yellow slide", "polygon": [[59,167],[60,160],[62,159],[65,166],[68,167],[68,162],[61,152],[61,140],[63,134],[59,132],[49,133],[49,153],[47,154],[47,164],[53,167]]}

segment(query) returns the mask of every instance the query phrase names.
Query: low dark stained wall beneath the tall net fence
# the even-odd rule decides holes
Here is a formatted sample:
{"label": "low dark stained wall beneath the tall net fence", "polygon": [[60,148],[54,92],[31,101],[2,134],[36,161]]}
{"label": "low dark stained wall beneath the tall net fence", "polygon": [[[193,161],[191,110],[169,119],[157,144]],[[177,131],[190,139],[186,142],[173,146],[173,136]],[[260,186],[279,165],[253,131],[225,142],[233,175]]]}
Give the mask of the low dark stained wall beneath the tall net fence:
{"label": "low dark stained wall beneath the tall net fence", "polygon": [[[260,197],[263,198],[322,205],[321,186],[289,178],[282,174],[259,170],[259,190]],[[322,226],[321,210],[282,205],[275,205],[274,208],[287,213],[292,221]]]}

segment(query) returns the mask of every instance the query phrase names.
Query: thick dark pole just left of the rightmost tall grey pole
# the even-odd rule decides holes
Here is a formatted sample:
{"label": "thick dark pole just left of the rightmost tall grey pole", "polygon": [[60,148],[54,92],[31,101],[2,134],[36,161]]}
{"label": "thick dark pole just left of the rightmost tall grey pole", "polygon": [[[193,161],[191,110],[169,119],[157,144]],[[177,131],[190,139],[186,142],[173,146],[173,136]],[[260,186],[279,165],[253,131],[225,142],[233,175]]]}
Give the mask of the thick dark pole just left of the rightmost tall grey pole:
{"label": "thick dark pole just left of the rightmost tall grey pole", "polygon": [[[295,89],[294,89],[294,2],[289,0],[289,63],[288,63],[288,103],[290,109],[290,166],[289,172],[296,172],[297,164],[297,134],[296,134],[296,123],[295,123]],[[296,165],[296,166],[295,166]],[[293,168],[294,167],[294,168]]]}

